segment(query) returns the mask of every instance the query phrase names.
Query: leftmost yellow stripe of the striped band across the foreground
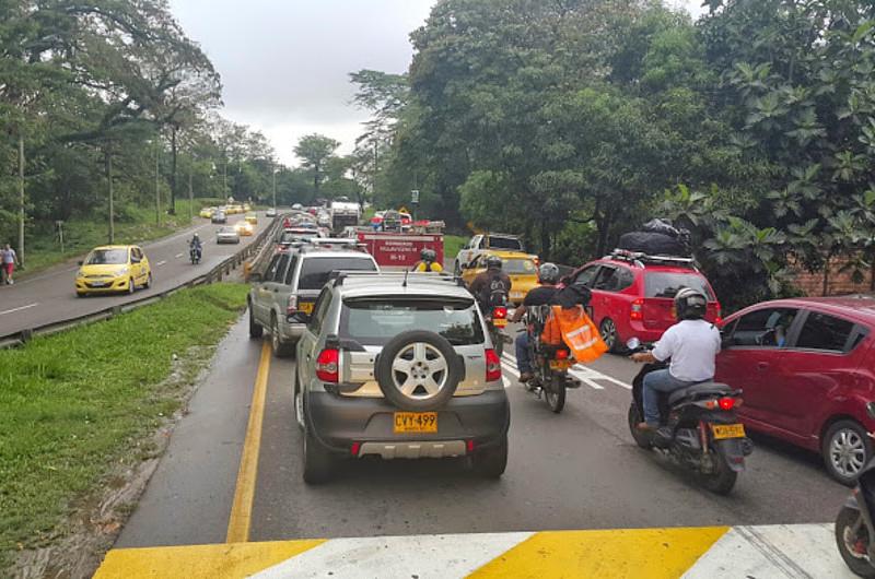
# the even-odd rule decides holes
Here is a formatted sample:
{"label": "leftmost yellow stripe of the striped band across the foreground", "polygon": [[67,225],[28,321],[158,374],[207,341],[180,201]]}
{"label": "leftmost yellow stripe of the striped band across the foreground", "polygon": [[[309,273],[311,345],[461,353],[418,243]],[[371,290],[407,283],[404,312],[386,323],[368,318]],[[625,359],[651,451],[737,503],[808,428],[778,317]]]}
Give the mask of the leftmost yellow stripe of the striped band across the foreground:
{"label": "leftmost yellow stripe of the striped band across the foreground", "polygon": [[116,548],[106,555],[94,579],[235,579],[262,571],[324,542],[302,540]]}

